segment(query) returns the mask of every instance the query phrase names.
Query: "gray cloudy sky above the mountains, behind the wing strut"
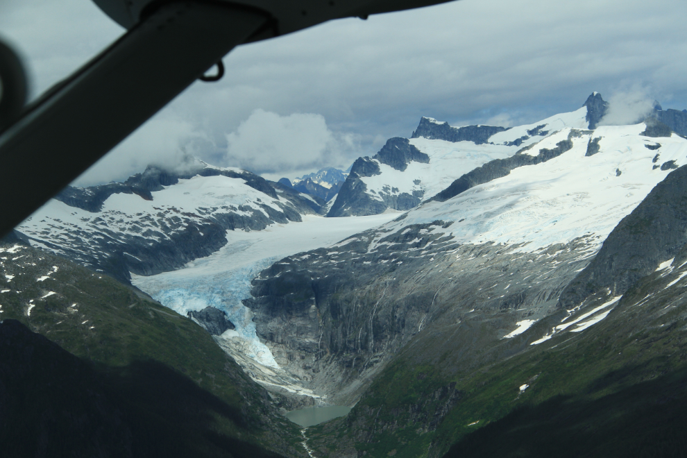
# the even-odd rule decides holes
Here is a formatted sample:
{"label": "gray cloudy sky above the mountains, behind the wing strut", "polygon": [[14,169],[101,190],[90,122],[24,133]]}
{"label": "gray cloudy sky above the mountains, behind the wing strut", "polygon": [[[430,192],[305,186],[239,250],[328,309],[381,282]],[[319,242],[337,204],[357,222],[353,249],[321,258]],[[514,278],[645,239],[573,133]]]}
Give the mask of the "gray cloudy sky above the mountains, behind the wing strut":
{"label": "gray cloudy sky above the mountains, behind the wing strut", "polygon": [[[193,154],[266,178],[346,168],[421,116],[512,126],[576,110],[593,91],[614,121],[687,108],[684,0],[460,0],[343,19],[239,46],[77,180],[121,180]],[[0,37],[33,96],[124,30],[90,0],[3,0]],[[627,117],[627,116],[625,116]]]}

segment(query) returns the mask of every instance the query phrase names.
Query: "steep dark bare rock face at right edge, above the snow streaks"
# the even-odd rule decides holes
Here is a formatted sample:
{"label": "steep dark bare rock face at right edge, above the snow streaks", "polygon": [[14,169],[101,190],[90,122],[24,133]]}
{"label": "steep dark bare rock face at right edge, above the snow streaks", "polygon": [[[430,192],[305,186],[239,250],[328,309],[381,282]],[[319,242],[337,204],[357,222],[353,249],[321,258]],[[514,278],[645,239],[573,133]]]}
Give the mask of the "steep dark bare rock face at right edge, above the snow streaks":
{"label": "steep dark bare rock face at right edge, above the snow streaks", "polygon": [[[561,294],[571,308],[595,293],[618,296],[663,260],[684,262],[687,244],[687,167],[671,172],[604,241],[589,266]],[[678,259],[679,258],[679,259]]]}

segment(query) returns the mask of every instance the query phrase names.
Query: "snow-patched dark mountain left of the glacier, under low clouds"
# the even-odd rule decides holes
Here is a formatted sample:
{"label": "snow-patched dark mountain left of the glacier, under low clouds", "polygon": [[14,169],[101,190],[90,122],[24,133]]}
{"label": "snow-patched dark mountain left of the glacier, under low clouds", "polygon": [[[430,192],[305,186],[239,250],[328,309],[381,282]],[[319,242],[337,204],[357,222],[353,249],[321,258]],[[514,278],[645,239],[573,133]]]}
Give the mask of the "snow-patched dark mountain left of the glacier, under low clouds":
{"label": "snow-patched dark mountain left of the glacier, under low clouds", "polygon": [[33,246],[128,282],[130,272],[178,269],[227,243],[227,231],[263,230],[321,212],[323,201],[241,169],[149,167],[125,183],[67,187],[16,230]]}

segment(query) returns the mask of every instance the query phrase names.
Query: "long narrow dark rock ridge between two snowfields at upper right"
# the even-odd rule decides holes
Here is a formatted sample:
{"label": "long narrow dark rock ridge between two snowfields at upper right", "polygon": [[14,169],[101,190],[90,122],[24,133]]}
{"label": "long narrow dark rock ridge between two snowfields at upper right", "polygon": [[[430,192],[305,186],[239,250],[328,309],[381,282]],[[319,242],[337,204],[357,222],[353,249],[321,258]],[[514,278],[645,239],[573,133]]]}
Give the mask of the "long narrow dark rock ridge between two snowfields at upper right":
{"label": "long narrow dark rock ridge between two snowfields at upper right", "polygon": [[488,183],[496,178],[501,178],[507,176],[511,173],[511,170],[517,167],[523,167],[525,165],[534,165],[541,162],[546,162],[550,159],[556,158],[557,156],[565,153],[572,149],[572,141],[570,139],[562,140],[556,144],[554,149],[542,148],[539,150],[538,155],[531,156],[525,151],[531,149],[534,145],[528,146],[525,149],[518,151],[515,155],[506,159],[495,159],[493,161],[487,162],[482,165],[482,167],[477,167],[463,176],[455,180],[449,187],[444,189],[436,196],[432,197],[432,201],[447,201],[448,199],[465,192],[471,187],[477,185],[482,185],[482,183]]}

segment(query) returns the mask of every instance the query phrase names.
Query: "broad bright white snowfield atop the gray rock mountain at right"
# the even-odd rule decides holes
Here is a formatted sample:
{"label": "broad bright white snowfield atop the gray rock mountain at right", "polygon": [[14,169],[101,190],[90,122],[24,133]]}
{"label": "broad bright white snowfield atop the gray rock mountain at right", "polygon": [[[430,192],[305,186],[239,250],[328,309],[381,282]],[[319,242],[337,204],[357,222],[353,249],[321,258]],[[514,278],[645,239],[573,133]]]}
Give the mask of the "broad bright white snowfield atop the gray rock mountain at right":
{"label": "broad bright white snowfield atop the gray rock mountain at right", "polygon": [[[616,224],[643,201],[653,187],[675,168],[687,163],[687,140],[661,137],[661,148],[647,149],[656,139],[640,135],[645,124],[603,126],[572,137],[573,147],[541,164],[519,167],[468,189],[446,202],[426,202],[401,221],[382,230],[400,231],[411,224],[452,221],[436,231],[462,244],[522,244],[536,251],[583,235],[600,245]],[[550,135],[532,149],[552,148],[568,137],[570,128]],[[600,152],[586,156],[591,137],[601,137]],[[654,162],[656,153],[659,160]],[[671,162],[674,161],[674,162]],[[658,167],[668,164],[670,167]],[[379,232],[384,237],[386,232]]]}

